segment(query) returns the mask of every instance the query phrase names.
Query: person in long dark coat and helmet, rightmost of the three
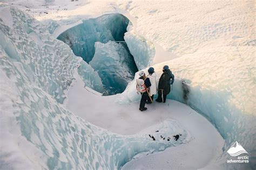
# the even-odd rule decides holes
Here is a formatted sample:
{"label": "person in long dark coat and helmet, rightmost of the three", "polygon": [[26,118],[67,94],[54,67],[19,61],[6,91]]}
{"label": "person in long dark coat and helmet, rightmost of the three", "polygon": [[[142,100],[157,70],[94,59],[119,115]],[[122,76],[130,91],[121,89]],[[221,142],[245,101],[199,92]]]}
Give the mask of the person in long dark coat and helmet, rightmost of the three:
{"label": "person in long dark coat and helmet, rightmost of the three", "polygon": [[165,103],[166,96],[170,93],[171,85],[174,82],[174,75],[169,69],[169,66],[164,66],[163,72],[158,83],[158,97],[156,101]]}

